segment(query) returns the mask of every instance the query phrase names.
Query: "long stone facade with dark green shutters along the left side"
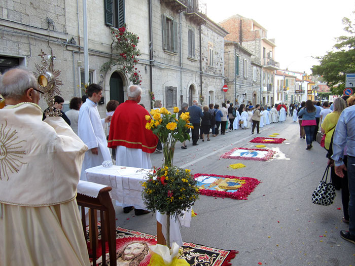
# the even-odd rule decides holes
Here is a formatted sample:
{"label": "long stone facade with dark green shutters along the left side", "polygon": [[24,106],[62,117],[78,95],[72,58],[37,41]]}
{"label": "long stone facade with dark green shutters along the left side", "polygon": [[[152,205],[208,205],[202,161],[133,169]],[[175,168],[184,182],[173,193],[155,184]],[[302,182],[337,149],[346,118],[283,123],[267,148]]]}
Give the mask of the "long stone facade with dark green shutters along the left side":
{"label": "long stone facade with dark green shutters along the left side", "polygon": [[[137,4],[139,2],[139,4]],[[150,92],[163,106],[204,98],[224,100],[224,45],[227,31],[208,19],[197,0],[87,0],[90,80],[84,79],[83,2],[79,0],[0,0],[0,70],[23,65],[34,70],[41,49],[56,57],[61,95],[67,104],[84,93],[84,84],[103,87],[101,117],[110,99],[126,100],[129,77],[113,67],[101,72],[112,56],[111,28],[124,23],[139,36],[136,68],[142,77],[141,102],[150,109]],[[47,104],[41,99],[40,105]],[[64,106],[68,108],[67,105]],[[64,108],[64,110],[65,110]]]}

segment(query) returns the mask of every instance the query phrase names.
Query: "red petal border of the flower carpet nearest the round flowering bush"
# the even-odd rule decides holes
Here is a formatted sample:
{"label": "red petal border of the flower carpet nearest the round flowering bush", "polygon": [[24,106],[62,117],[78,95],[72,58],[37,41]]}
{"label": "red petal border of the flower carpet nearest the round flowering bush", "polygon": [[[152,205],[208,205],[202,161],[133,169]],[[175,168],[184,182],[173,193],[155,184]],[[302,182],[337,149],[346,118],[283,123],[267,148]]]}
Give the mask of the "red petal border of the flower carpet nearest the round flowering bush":
{"label": "red petal border of the flower carpet nearest the round flowering bush", "polygon": [[199,176],[211,176],[211,177],[222,177],[222,178],[239,178],[244,179],[246,181],[238,191],[236,192],[226,192],[226,191],[211,191],[209,189],[200,189],[199,193],[205,196],[219,197],[219,198],[231,198],[234,200],[247,200],[249,194],[251,194],[255,187],[261,182],[252,177],[238,177],[233,175],[215,175],[215,174],[195,174],[194,177],[197,178]]}

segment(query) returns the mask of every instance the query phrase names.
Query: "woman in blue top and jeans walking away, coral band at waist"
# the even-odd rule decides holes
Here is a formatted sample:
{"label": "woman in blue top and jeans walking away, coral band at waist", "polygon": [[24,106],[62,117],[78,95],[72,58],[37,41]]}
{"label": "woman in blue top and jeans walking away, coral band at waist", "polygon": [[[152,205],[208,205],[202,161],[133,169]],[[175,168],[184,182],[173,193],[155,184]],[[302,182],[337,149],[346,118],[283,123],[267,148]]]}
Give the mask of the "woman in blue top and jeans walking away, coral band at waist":
{"label": "woman in blue top and jeans walking away, coral band at waist", "polygon": [[298,117],[302,116],[302,124],[304,131],[306,132],[306,142],[307,150],[312,148],[313,134],[315,126],[317,125],[315,121],[316,109],[311,100],[306,101],[306,106],[303,107],[297,114]]}

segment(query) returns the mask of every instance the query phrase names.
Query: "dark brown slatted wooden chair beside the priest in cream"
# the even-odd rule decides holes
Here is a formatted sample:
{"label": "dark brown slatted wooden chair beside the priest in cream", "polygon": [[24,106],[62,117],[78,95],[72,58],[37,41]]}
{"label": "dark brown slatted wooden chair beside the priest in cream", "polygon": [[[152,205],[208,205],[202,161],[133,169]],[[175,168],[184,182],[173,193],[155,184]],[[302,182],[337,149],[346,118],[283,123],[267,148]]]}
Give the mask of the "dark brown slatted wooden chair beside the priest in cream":
{"label": "dark brown slatted wooden chair beside the priest in cream", "polygon": [[[105,243],[109,242],[110,265],[116,266],[116,213],[109,192],[111,186],[105,186],[98,192],[97,198],[89,197],[78,192],[77,202],[81,206],[82,224],[86,239],[85,207],[90,208],[89,212],[89,232],[90,244],[93,253],[93,266],[96,266],[96,246],[97,246],[97,217],[96,210],[100,210],[101,217],[101,250],[102,265],[106,265]],[[107,239],[107,240],[106,240]]]}

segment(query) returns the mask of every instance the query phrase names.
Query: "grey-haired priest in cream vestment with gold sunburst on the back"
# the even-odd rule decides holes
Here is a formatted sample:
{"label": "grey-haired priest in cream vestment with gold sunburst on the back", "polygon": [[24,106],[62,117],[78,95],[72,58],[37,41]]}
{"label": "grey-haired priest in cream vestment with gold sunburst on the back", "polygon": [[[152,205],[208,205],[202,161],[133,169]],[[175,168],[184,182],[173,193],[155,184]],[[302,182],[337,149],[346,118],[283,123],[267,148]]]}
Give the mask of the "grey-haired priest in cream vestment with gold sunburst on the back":
{"label": "grey-haired priest in cream vestment with gold sunburst on the back", "polygon": [[0,265],[90,265],[76,201],[87,146],[60,117],[42,121],[33,74],[0,78]]}

